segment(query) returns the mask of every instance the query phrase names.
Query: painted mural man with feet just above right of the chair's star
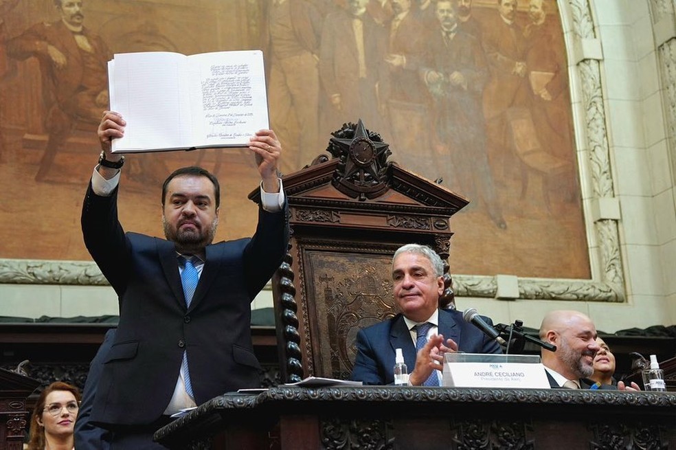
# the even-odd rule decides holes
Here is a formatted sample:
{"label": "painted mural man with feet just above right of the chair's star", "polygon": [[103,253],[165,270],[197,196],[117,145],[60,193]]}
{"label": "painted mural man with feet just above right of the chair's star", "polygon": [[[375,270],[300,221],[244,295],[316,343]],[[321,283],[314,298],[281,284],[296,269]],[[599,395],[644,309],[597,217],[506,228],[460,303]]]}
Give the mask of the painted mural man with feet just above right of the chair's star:
{"label": "painted mural man with feet just above right of the chair's star", "polygon": [[381,81],[383,113],[392,130],[393,159],[427,178],[431,165],[418,155],[418,148],[429,148],[427,90],[418,69],[425,30],[412,10],[412,0],[392,0],[394,18],[387,29],[386,72]]}

